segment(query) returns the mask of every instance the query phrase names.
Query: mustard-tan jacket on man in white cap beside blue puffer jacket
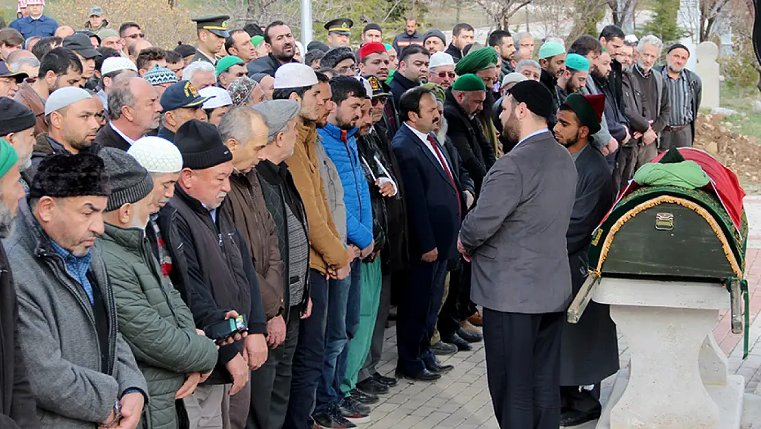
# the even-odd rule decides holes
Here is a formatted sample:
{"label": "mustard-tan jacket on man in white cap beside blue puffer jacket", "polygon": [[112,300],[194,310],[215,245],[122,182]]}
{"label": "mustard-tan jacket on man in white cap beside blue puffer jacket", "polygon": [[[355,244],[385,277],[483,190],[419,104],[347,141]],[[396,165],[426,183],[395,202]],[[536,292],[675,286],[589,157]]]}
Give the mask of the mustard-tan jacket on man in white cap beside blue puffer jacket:
{"label": "mustard-tan jacket on man in white cap beside blue puffer jacket", "polygon": [[309,223],[309,267],[326,274],[327,268],[349,264],[351,257],[341,241],[325,196],[317,152],[314,150],[317,130],[312,125],[298,125],[298,139],[291,158],[285,160],[293,181],[304,200]]}

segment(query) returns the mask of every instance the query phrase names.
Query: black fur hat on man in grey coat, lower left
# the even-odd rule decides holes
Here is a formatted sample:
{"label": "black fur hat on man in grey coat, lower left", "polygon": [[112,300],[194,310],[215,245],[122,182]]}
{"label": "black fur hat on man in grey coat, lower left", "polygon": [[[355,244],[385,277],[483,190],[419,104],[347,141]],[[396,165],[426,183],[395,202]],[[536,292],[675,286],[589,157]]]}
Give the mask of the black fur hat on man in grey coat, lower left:
{"label": "black fur hat on man in grey coat, lower left", "polygon": [[111,184],[103,159],[91,153],[46,156],[29,187],[30,198],[108,197]]}

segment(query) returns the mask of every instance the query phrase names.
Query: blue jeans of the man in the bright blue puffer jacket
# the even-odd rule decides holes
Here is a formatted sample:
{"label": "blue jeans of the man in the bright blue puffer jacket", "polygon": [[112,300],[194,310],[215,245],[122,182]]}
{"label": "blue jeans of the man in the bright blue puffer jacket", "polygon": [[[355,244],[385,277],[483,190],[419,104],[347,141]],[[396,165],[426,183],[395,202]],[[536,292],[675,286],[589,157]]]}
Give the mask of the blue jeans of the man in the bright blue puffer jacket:
{"label": "blue jeans of the man in the bright blue puffer jacket", "polygon": [[317,385],[317,412],[343,398],[340,388],[348,363],[349,341],[359,328],[361,266],[361,261],[355,260],[349,277],[328,283],[325,360]]}

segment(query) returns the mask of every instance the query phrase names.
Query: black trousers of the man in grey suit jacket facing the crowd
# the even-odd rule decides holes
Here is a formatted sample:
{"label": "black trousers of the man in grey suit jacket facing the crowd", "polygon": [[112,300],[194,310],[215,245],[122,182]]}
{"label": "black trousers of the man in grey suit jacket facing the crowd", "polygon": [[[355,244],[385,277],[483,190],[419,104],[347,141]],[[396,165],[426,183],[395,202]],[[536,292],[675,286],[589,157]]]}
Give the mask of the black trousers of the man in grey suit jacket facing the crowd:
{"label": "black trousers of the man in grey suit jacket facing the crowd", "polygon": [[560,425],[560,335],[565,312],[483,309],[486,376],[503,429]]}

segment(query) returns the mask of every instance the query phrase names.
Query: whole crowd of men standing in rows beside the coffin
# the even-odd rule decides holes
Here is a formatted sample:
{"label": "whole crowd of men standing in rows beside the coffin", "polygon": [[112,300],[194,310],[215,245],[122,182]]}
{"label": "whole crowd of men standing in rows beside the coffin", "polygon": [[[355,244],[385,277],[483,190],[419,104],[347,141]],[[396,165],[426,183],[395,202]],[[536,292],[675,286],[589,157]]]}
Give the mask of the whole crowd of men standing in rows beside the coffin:
{"label": "whole crowd of men standing in rows beside the coffin", "polygon": [[599,417],[616,326],[564,312],[616,192],[692,145],[686,46],[218,15],[164,50],[43,8],[0,30],[0,427],[356,427],[479,341],[501,427]]}

